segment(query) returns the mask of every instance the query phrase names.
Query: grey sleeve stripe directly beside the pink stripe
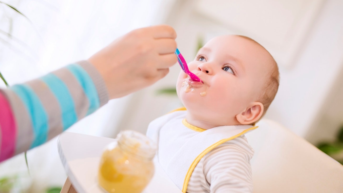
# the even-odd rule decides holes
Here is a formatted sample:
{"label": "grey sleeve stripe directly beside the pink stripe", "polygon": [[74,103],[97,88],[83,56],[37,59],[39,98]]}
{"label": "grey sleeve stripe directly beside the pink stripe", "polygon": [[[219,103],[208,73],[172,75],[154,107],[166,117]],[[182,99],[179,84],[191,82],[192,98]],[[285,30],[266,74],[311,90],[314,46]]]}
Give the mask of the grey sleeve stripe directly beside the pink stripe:
{"label": "grey sleeve stripe directly beside the pink stripe", "polygon": [[19,96],[9,89],[3,90],[3,93],[7,95],[7,99],[10,101],[15,117],[17,130],[14,154],[17,155],[28,150],[34,139],[31,117]]}

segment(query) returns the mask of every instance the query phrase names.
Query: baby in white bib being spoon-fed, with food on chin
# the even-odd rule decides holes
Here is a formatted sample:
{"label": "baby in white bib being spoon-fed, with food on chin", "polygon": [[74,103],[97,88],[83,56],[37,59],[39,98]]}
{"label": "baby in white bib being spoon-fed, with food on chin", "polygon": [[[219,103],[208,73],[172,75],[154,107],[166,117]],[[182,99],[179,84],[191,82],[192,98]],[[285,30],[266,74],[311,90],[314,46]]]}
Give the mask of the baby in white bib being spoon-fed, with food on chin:
{"label": "baby in white bib being spoon-fed, with food on chin", "polygon": [[206,43],[188,67],[203,83],[181,71],[176,90],[185,108],[147,130],[159,164],[182,192],[252,192],[253,149],[244,134],[257,128],[275,97],[275,60],[249,37],[224,35]]}

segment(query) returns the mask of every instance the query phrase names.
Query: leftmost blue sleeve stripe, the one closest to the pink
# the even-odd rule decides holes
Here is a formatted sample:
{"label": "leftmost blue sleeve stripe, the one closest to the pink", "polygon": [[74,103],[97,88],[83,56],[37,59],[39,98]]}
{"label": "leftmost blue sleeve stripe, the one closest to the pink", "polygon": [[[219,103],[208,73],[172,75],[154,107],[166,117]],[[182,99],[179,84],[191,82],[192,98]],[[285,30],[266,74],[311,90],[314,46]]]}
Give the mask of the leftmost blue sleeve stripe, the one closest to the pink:
{"label": "leftmost blue sleeve stripe, the one closest to the pink", "polygon": [[32,121],[33,136],[31,148],[43,144],[48,139],[48,115],[36,93],[27,85],[14,85],[10,87],[23,101]]}

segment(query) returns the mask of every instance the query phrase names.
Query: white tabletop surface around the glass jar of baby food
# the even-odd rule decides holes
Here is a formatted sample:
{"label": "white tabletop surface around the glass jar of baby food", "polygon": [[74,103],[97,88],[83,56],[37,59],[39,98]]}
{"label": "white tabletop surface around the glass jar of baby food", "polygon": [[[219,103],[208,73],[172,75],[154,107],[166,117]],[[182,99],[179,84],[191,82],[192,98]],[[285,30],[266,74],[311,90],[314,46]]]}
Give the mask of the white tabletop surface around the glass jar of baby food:
{"label": "white tabletop surface around the glass jar of baby food", "polygon": [[[68,178],[78,193],[104,193],[97,184],[97,171],[105,147],[113,138],[64,132],[58,138],[58,151]],[[164,170],[155,164],[155,173],[143,193],[181,193]]]}

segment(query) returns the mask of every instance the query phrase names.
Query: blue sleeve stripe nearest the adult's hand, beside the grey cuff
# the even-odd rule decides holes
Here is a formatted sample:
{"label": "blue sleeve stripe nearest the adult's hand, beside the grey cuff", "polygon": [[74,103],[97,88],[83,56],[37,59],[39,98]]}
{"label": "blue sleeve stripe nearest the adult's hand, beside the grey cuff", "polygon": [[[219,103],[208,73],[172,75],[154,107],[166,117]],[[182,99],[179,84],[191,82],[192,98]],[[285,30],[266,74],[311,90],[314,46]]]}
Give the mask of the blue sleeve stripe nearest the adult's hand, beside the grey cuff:
{"label": "blue sleeve stripe nearest the adult's hand, beside the grey cuff", "polygon": [[87,115],[93,113],[95,110],[99,108],[100,101],[98,92],[96,91],[92,78],[88,75],[86,70],[84,70],[81,66],[77,64],[68,65],[66,68],[73,73],[73,75],[82,86],[88,98],[90,106],[88,108]]}

